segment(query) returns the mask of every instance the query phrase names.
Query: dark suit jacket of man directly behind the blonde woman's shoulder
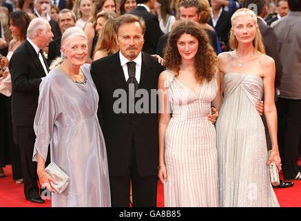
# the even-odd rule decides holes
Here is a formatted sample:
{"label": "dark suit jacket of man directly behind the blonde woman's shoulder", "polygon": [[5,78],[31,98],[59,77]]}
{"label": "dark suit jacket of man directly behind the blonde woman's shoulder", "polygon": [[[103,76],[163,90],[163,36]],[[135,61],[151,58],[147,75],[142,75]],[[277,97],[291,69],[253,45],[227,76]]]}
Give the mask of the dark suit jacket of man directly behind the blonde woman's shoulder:
{"label": "dark suit jacket of man directly behind the blonde woman's shoulder", "polygon": [[272,57],[275,60],[276,65],[276,77],[275,77],[275,86],[279,88],[280,79],[282,75],[282,64],[280,61],[280,55],[278,50],[278,41],[276,34],[270,26],[267,26],[263,21],[257,19],[260,33],[262,35],[265,52],[267,55]]}

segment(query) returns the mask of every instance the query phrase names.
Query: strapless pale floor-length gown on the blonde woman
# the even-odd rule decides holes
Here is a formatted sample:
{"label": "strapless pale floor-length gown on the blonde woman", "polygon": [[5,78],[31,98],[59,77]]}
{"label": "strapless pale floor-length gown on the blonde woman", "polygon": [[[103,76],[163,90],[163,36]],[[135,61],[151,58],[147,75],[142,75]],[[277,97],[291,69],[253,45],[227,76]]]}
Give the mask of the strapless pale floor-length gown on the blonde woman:
{"label": "strapless pale floor-length gown on the blonde woman", "polygon": [[264,126],[256,111],[263,80],[227,73],[224,88],[216,122],[220,206],[279,206],[269,180]]}

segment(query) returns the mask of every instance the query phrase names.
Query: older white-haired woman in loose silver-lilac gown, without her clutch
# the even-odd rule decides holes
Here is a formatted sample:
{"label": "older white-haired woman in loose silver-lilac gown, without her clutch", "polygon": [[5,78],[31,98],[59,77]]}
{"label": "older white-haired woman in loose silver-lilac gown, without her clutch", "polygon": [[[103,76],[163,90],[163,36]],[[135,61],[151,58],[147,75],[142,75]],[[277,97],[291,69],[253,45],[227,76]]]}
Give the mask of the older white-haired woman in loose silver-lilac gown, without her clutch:
{"label": "older white-haired woman in loose silver-lilac gown, without her clutch", "polygon": [[50,144],[51,162],[70,176],[63,193],[52,193],[52,206],[110,206],[110,183],[105,140],[96,111],[98,94],[87,57],[87,37],[69,28],[61,39],[63,59],[43,79],[34,119],[37,140],[33,160],[39,180],[53,191],[53,177],[45,172]]}

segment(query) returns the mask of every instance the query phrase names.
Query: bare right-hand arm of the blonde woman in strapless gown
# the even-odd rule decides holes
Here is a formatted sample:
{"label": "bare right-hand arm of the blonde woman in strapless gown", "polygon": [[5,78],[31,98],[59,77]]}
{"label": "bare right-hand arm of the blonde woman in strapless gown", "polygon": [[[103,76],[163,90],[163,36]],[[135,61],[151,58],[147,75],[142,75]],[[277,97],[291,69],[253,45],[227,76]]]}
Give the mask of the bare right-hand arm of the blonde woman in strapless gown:
{"label": "bare right-hand arm of the blonde woman in strapless gown", "polygon": [[269,135],[271,137],[272,153],[267,160],[267,164],[275,162],[278,170],[281,170],[281,160],[278,151],[277,142],[277,111],[274,101],[274,81],[275,81],[275,61],[271,57],[264,56],[261,60],[263,73],[263,87],[264,87],[264,116],[267,119],[267,126],[269,128]]}

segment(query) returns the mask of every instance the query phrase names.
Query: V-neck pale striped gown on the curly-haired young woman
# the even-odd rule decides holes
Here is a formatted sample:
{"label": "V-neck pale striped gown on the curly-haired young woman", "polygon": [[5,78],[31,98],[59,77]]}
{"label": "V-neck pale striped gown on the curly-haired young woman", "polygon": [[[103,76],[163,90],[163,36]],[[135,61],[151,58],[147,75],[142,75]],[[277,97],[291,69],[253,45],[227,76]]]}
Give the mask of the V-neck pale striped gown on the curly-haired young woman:
{"label": "V-neck pale striped gown on the curly-haired young woman", "polygon": [[165,71],[172,118],[165,131],[165,206],[218,206],[216,129],[207,115],[216,97],[216,79],[200,93]]}

